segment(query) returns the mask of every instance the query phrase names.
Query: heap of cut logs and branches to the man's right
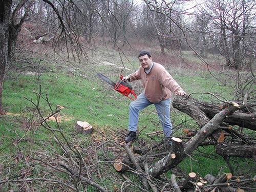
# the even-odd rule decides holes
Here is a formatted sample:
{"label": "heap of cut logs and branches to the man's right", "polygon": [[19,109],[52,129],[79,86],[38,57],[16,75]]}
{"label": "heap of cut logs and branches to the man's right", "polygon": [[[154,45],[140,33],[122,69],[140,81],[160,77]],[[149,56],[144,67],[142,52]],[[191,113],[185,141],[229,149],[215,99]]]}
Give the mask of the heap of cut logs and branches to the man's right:
{"label": "heap of cut logs and branches to the man's right", "polygon": [[[140,156],[135,156],[125,143],[121,143],[121,146],[125,148],[128,156],[123,156],[123,158],[118,159],[118,162],[114,165],[114,167],[119,165],[117,166],[119,169],[116,168],[117,171],[125,172],[129,167],[137,169],[145,189],[147,186],[145,179],[147,181],[151,179],[148,184],[152,184],[152,178],[161,178],[168,170],[172,170],[173,175],[171,181],[168,181],[167,185],[165,183],[164,186],[171,186],[175,191],[184,189],[198,191],[217,191],[218,189],[222,191],[243,191],[242,188],[246,188],[245,184],[255,181],[255,178],[252,178],[252,176],[244,179],[234,177],[234,170],[228,160],[230,156],[255,159],[255,138],[248,138],[242,135],[242,132],[233,129],[233,127],[238,127],[240,130],[248,129],[254,132],[256,127],[255,112],[249,113],[246,111],[246,109],[248,109],[247,106],[235,102],[224,103],[222,105],[209,104],[189,96],[177,97],[173,101],[173,106],[192,117],[199,125],[200,130],[192,131],[193,134],[190,134],[189,137],[186,138],[188,139],[187,142],[185,142],[185,139],[182,137],[172,137],[172,148],[169,148],[162,156],[157,157],[154,156],[156,152],[154,151],[154,147],[145,149],[141,152]],[[196,176],[195,173],[190,173],[189,176],[183,175],[182,179],[177,181],[177,177],[174,173],[177,165],[186,157],[190,156],[199,146],[206,144],[214,144],[217,146],[217,154],[224,158],[229,166],[230,173],[223,173],[216,178],[210,175],[201,178]],[[147,174],[144,173],[144,164],[149,164]],[[151,184],[149,186],[151,186]],[[158,189],[164,191],[159,185]],[[153,190],[158,191],[155,188]]]}

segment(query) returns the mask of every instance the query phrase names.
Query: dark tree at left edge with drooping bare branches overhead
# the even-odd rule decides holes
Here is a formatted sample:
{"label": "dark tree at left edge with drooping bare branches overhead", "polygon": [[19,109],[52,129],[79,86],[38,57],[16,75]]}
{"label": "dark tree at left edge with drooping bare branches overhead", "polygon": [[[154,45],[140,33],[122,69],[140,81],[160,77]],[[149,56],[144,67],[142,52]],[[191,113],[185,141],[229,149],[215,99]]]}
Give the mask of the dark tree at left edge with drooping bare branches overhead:
{"label": "dark tree at left edge with drooping bare branches overhead", "polygon": [[[75,44],[75,42],[78,42],[78,37],[72,30],[74,29],[73,26],[76,25],[71,25],[70,22],[75,18],[75,4],[65,0],[54,2],[42,0],[40,2],[44,2],[48,6],[45,6],[45,9],[42,10],[42,4],[38,4],[35,0],[0,1],[0,112],[3,112],[2,91],[5,73],[13,61],[18,33],[26,19],[37,14],[41,17],[38,20],[47,23],[49,21],[47,19],[50,18],[51,25],[49,25],[49,22],[47,26],[51,26],[49,29],[55,31],[55,42],[60,42],[60,37],[64,37],[65,43],[63,45],[66,47],[67,51],[71,50],[73,54],[74,49],[78,55],[84,54],[80,44]],[[37,7],[36,5],[40,6]],[[51,9],[51,11],[49,11],[49,9]],[[52,15],[50,12],[55,13],[55,16],[50,16]],[[41,34],[39,36],[41,36]],[[67,39],[70,40],[70,43]]]}

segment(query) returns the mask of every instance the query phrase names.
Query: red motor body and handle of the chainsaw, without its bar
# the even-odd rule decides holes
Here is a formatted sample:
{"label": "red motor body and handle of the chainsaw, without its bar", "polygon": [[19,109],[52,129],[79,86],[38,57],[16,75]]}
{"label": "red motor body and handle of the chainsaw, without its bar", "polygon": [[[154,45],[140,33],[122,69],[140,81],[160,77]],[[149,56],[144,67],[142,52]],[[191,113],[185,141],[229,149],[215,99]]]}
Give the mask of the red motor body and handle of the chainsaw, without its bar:
{"label": "red motor body and handle of the chainsaw, without its bar", "polygon": [[[124,95],[124,96],[126,96],[126,97],[128,97],[128,98],[130,98],[132,100],[137,99],[136,94],[132,90],[133,89],[132,86],[130,86],[129,83],[124,82],[123,75],[120,75],[120,79],[121,80],[116,83],[114,89],[117,92],[121,93],[122,95]],[[130,94],[132,94],[134,96],[134,98],[131,97]]]}

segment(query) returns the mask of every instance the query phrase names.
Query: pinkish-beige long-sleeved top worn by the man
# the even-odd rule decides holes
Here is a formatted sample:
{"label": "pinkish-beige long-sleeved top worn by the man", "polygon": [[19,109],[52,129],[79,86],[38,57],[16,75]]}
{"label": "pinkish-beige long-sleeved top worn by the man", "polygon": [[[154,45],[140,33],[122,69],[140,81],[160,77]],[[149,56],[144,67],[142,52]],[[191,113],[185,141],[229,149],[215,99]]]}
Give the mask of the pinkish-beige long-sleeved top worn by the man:
{"label": "pinkish-beige long-sleeved top worn by the man", "polygon": [[146,98],[153,103],[158,103],[169,99],[171,92],[176,94],[182,88],[161,64],[153,62],[153,65],[150,73],[146,74],[140,66],[139,70],[130,74],[129,77],[131,82],[141,79]]}

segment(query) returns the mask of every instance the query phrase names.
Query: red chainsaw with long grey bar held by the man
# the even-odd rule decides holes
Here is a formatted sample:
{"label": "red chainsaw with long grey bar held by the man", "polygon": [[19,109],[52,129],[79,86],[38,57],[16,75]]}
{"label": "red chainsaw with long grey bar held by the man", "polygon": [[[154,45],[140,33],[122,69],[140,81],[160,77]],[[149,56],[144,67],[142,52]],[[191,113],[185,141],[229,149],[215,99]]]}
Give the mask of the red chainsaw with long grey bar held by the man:
{"label": "red chainsaw with long grey bar held by the man", "polygon": [[122,95],[124,95],[132,100],[137,99],[137,96],[136,96],[135,92],[133,91],[132,86],[129,83],[124,81],[125,79],[123,78],[123,75],[119,76],[120,80],[117,83],[112,81],[108,77],[102,75],[101,73],[97,73],[97,75],[99,78],[101,78],[102,80],[106,81],[111,86],[113,86],[114,90],[116,90],[117,92],[121,93]]}

